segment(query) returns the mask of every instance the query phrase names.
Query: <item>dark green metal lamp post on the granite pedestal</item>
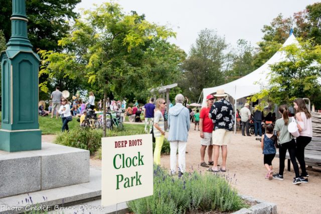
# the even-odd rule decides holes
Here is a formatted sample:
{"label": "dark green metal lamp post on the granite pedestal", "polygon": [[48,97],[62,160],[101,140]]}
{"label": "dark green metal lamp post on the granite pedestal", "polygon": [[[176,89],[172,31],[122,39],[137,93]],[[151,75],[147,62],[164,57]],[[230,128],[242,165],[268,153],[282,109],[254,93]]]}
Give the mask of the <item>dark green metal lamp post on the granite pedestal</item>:
{"label": "dark green metal lamp post on the granite pedestal", "polygon": [[2,119],[0,149],[41,149],[38,122],[38,68],[40,58],[27,35],[26,0],[13,0],[12,35],[0,54]]}

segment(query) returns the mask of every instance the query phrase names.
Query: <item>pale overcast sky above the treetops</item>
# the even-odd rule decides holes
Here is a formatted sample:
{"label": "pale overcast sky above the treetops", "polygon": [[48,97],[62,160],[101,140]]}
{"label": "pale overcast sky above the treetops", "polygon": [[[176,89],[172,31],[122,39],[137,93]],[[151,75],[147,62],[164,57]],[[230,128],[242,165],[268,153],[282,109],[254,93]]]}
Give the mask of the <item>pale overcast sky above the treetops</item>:
{"label": "pale overcast sky above the treetops", "polygon": [[[79,8],[94,8],[108,0],[82,0]],[[168,25],[177,37],[171,39],[187,53],[204,28],[216,29],[232,46],[239,38],[256,46],[264,24],[270,24],[279,13],[292,16],[306,5],[320,0],[118,0],[123,11],[135,10],[146,20]]]}

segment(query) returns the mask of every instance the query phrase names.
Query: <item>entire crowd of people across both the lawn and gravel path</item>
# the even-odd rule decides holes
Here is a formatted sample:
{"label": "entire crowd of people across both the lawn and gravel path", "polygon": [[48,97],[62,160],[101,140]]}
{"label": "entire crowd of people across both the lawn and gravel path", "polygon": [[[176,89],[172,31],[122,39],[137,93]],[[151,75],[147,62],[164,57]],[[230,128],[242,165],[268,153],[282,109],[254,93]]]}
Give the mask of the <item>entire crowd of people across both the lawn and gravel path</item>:
{"label": "entire crowd of people across both the lawn and gravel path", "polygon": [[[126,108],[126,102],[109,100],[107,98],[106,108],[108,110],[123,111],[125,116],[134,116],[136,122],[141,122],[140,114],[144,115],[144,130],[147,133],[152,133],[155,142],[153,152],[153,161],[155,164],[161,164],[161,150],[164,142],[166,131],[168,131],[168,140],[170,141],[170,167],[171,174],[177,171],[179,174],[185,173],[185,153],[188,141],[188,132],[190,130],[191,120],[194,119],[194,130],[200,131],[200,154],[203,167],[208,167],[211,172],[225,172],[227,160],[227,145],[230,143],[232,130],[234,125],[234,110],[232,104],[226,99],[227,94],[224,89],[218,89],[215,95],[209,94],[206,97],[207,106],[196,109],[195,112],[188,104],[188,98],[182,94],[177,94],[175,97],[175,105],[170,103],[169,111],[167,111],[167,103],[164,98],[150,98],[149,102],[139,107],[136,101],[133,106]],[[95,96],[92,91],[89,92],[89,101],[84,103],[77,94],[72,97],[72,102],[68,102],[66,97],[63,97],[60,88],[51,94],[52,102],[49,106],[49,111],[46,111],[44,101],[39,102],[39,114],[46,116],[51,113],[51,117],[58,115],[62,118],[62,131],[69,130],[68,122],[72,117],[79,116],[82,122],[86,116],[87,110],[94,110]],[[308,182],[308,174],[304,162],[304,148],[311,141],[312,125],[311,114],[305,106],[302,98],[297,98],[293,102],[295,109],[295,118],[290,117],[287,106],[279,106],[281,117],[276,119],[275,113],[268,113],[265,117],[263,112],[256,106],[253,114],[249,109],[249,103],[245,103],[240,110],[236,110],[236,117],[240,119],[242,124],[242,135],[250,135],[249,123],[253,121],[255,127],[255,136],[261,137],[261,147],[263,164],[267,170],[265,178],[283,180],[284,160],[286,151],[294,168],[295,177],[293,184]],[[98,102],[98,110],[103,107],[102,100]],[[261,122],[264,121],[267,125],[265,133],[262,135]],[[293,133],[289,132],[288,125],[290,122],[297,123],[299,135],[294,137]],[[218,168],[218,158],[222,154],[222,165]],[[272,160],[276,154],[276,148],[279,148],[279,171],[273,174]],[[208,162],[205,161],[205,153],[207,149]],[[178,165],[177,165],[177,150],[178,150]],[[299,167],[296,162],[298,160]],[[178,169],[178,170],[177,170]]]}

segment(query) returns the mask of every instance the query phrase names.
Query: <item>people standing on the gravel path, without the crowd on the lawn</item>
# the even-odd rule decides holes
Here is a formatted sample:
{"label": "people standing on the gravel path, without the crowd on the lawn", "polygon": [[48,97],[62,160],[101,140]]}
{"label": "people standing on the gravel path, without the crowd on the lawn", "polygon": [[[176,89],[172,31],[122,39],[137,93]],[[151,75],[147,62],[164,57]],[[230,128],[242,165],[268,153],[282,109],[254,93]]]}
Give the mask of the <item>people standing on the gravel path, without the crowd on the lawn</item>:
{"label": "people standing on the gravel path, without the crowd on the lawn", "polygon": [[[223,89],[217,90],[215,95],[209,94],[206,97],[207,106],[203,107],[200,112],[196,111],[194,114],[194,130],[196,130],[197,127],[200,130],[200,165],[209,167],[208,171],[211,172],[225,172],[227,170],[227,145],[232,136],[234,110],[232,104],[226,99],[226,96],[227,94],[224,93]],[[177,150],[179,153],[178,170],[180,173],[184,173],[186,170],[185,151],[191,118],[190,110],[183,105],[187,104],[184,103],[184,100],[186,100],[185,98],[186,97],[182,94],[178,94],[175,98],[176,104],[174,107],[170,108],[168,112],[168,140],[170,141],[171,147],[170,167],[172,174],[175,174],[177,171]],[[215,98],[216,101],[214,101]],[[164,99],[158,98],[156,100],[156,105],[153,105],[153,107],[150,105],[152,102],[153,100],[150,99],[149,103],[145,105],[147,107],[146,112],[150,113],[147,117],[149,119],[146,120],[146,124],[150,121],[153,124],[153,134],[155,137],[154,163],[161,164],[160,155],[166,131],[164,128],[165,117],[162,111],[166,108],[166,102]],[[261,138],[263,164],[267,169],[265,178],[283,180],[284,160],[286,151],[288,150],[295,172],[292,183],[298,185],[302,182],[308,182],[308,174],[304,162],[304,148],[311,141],[312,125],[311,114],[306,108],[304,100],[302,98],[297,98],[294,100],[293,105],[296,112],[295,118],[289,117],[292,114],[285,105],[279,106],[279,113],[281,115],[281,118],[279,119],[276,119],[275,114],[272,113],[263,117],[263,113],[257,108],[255,108],[254,115],[252,115],[249,110],[249,104],[245,104],[240,112],[237,112],[237,116],[240,116],[243,123],[243,135],[245,135],[246,123],[249,122],[249,120],[254,120],[254,124],[256,122],[257,127],[261,127],[262,120],[271,121],[267,123],[265,133]],[[287,128],[292,120],[297,122],[299,136],[297,136],[296,139]],[[146,128],[145,130],[146,132],[149,131]],[[260,136],[262,135],[259,128],[256,129],[256,135],[257,134]],[[222,165],[219,168],[218,158],[220,155],[220,148]],[[278,173],[273,174],[272,160],[275,157],[276,148],[279,148],[279,171]],[[206,149],[208,149],[208,162],[205,161]],[[296,159],[300,164],[301,173],[299,173]]]}

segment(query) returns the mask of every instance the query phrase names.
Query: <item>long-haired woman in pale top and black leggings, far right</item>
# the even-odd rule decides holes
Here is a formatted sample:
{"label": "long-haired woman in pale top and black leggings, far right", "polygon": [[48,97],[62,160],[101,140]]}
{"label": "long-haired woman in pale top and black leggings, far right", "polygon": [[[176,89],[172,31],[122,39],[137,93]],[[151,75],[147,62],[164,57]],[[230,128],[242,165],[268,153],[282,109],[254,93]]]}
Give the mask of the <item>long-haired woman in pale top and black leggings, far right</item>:
{"label": "long-haired woman in pale top and black leggings, far right", "polygon": [[297,160],[300,163],[301,174],[300,180],[301,182],[307,183],[307,178],[309,175],[305,169],[305,161],[304,161],[304,148],[312,139],[312,121],[311,114],[309,110],[305,106],[305,102],[302,98],[297,98],[293,101],[295,108],[295,118],[297,120],[297,127],[299,129],[300,136],[296,137],[296,150],[295,155]]}

